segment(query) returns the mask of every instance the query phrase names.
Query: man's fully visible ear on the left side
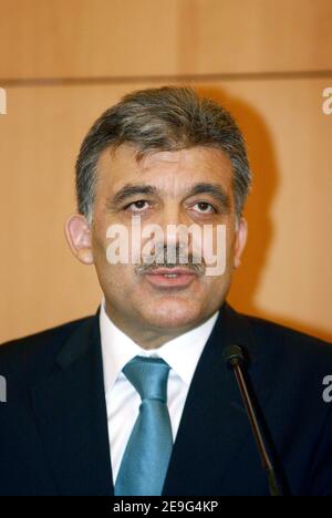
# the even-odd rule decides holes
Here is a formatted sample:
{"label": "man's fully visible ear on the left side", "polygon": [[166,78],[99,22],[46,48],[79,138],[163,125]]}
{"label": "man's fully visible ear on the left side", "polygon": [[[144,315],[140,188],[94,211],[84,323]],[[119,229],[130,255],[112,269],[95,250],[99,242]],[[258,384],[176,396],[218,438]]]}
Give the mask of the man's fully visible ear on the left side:
{"label": "man's fully visible ear on the left side", "polygon": [[83,265],[93,265],[90,225],[84,216],[74,214],[65,222],[65,237],[73,255]]}

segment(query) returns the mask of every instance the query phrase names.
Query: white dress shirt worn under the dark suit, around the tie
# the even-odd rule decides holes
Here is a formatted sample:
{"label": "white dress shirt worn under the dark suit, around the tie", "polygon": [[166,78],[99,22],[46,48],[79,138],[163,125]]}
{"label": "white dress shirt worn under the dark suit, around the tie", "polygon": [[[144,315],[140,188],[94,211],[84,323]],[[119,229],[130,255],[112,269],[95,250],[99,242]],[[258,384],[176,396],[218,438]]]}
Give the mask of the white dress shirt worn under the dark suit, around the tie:
{"label": "white dress shirt worn under the dark suit, around the tie", "polygon": [[217,318],[218,312],[198,328],[146,351],[112,322],[102,302],[100,329],[114,484],[141,405],[138,393],[122,373],[123,367],[137,355],[162,358],[168,363],[167,406],[175,441],[191,379]]}

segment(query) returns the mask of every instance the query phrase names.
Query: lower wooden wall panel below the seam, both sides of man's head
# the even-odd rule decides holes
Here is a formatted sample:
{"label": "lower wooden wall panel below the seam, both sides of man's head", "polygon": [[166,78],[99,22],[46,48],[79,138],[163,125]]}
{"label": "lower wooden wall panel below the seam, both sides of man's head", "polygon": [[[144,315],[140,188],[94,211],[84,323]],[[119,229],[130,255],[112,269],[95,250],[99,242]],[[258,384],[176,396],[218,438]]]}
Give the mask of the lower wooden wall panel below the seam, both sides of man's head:
{"label": "lower wooden wall panel below the seam, both sides of man's head", "polygon": [[[63,221],[73,166],[90,124],[149,83],[15,87],[0,117],[0,342],[96,309],[93,268],[72,258]],[[322,80],[199,84],[236,114],[256,187],[250,240],[230,300],[239,309],[331,338],[331,137]]]}

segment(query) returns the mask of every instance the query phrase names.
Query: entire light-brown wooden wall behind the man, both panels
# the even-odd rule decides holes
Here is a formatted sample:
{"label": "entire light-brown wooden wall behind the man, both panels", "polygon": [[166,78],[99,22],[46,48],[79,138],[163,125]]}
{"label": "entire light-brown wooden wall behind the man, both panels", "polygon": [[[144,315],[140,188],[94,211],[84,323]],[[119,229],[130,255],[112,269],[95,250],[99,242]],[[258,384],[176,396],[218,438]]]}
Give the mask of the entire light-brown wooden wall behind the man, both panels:
{"label": "entire light-brown wooden wall behind the man, both panels", "polygon": [[241,311],[332,340],[331,0],[1,0],[0,341],[94,312],[101,292],[63,236],[74,162],[124,93],[191,84],[246,134]]}

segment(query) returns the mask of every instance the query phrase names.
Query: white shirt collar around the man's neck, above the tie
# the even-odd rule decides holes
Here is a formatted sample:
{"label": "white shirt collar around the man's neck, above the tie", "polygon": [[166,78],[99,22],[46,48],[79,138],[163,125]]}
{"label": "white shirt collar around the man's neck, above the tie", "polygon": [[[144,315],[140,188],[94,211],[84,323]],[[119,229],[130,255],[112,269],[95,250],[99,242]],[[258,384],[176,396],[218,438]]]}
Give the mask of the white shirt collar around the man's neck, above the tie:
{"label": "white shirt collar around the man's neck, above the tie", "polygon": [[176,336],[158,349],[146,351],[112,322],[105,311],[105,300],[103,300],[100,312],[100,329],[105,392],[112,390],[123,367],[137,355],[162,358],[189,386],[217,318],[218,311],[197,328]]}

